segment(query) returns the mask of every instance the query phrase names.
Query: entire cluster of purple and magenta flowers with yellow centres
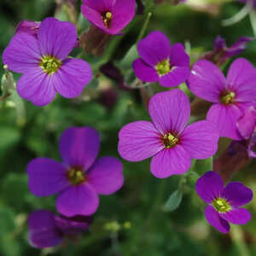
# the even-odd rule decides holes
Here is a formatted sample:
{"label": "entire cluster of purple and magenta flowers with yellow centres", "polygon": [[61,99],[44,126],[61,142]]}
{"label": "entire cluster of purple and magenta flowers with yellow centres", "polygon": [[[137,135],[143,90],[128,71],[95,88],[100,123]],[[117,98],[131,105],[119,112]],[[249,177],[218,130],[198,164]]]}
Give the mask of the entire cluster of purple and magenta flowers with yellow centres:
{"label": "entire cluster of purple and magenta flowers with yellow centres", "polygon": [[[81,6],[82,14],[95,29],[110,35],[119,35],[135,10],[135,0],[83,0]],[[252,39],[242,37],[228,48],[218,37],[213,51],[203,60],[197,59],[191,68],[183,44],[171,45],[163,32],[150,32],[140,40],[139,57],[132,60],[135,82],[140,80],[145,86],[159,83],[166,88],[148,100],[152,121],[134,120],[120,129],[119,155],[131,162],[152,157],[150,172],[158,178],[182,175],[189,171],[192,160],[213,157],[220,137],[244,143],[249,157],[256,158],[256,68],[238,58],[230,65],[226,78],[220,69]],[[70,22],[55,18],[21,21],[3,51],[4,65],[21,73],[16,87],[20,97],[45,106],[56,93],[66,98],[79,96],[93,75],[89,63],[69,56],[77,46],[77,30]],[[100,68],[114,67],[112,77],[125,83],[125,76],[109,63]],[[183,83],[188,88],[170,89]],[[205,119],[191,118],[192,94],[211,102]],[[100,136],[94,128],[69,127],[60,138],[61,162],[39,157],[28,163],[30,191],[38,197],[57,195],[56,209],[61,214],[47,210],[31,213],[29,241],[34,247],[53,247],[79,236],[89,229],[91,215],[99,207],[99,195],[112,195],[121,189],[121,161],[110,156],[96,159],[99,150]],[[204,171],[195,190],[208,205],[207,221],[222,233],[229,232],[229,223],[246,224],[251,215],[241,206],[252,200],[253,191],[238,182],[224,186],[217,172]]]}

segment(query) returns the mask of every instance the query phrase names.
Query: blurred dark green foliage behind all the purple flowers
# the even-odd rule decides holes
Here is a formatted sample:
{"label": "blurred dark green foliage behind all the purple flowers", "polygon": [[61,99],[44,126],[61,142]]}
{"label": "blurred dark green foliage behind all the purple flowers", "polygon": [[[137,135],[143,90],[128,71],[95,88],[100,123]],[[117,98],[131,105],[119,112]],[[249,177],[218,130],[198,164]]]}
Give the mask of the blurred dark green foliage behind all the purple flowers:
{"label": "blurred dark green foliage behind all the purple flowers", "polygon": [[[89,24],[79,15],[80,1],[75,2],[79,32],[82,32]],[[212,41],[218,35],[226,38],[228,45],[241,36],[253,36],[248,17],[236,25],[221,26],[222,20],[235,15],[242,8],[241,3],[223,0],[191,0],[191,5],[179,6],[169,3],[154,5],[152,0],[143,3],[146,3],[146,14],[153,12],[147,33],[160,30],[168,35],[172,43],[186,42],[194,58],[211,50]],[[9,44],[20,20],[44,20],[53,15],[61,20],[70,18],[63,6],[57,12],[56,8],[54,0],[1,0],[0,52]],[[126,27],[123,36],[113,38],[102,58],[85,56],[92,64],[96,79],[78,99],[68,100],[57,96],[44,108],[35,107],[30,102],[20,102],[17,98],[0,102],[1,256],[48,253],[64,256],[256,255],[255,200],[248,206],[252,220],[244,226],[232,225],[230,234],[224,236],[207,224],[204,205],[195,194],[195,181],[185,187],[183,200],[176,211],[163,211],[166,200],[177,189],[181,177],[165,180],[153,177],[149,172],[149,160],[138,163],[123,161],[124,187],[115,195],[101,197],[94,223],[79,241],[41,251],[31,247],[26,240],[29,212],[38,209],[55,211],[54,197],[37,198],[27,189],[26,164],[29,160],[39,156],[60,160],[58,140],[61,132],[69,126],[85,125],[100,132],[100,155],[119,157],[119,129],[131,121],[148,119],[139,90],[120,90],[115,81],[99,72],[100,63],[109,59],[119,64],[135,44],[146,14],[137,15]],[[73,52],[74,55],[78,53],[79,49]],[[255,42],[250,43],[242,55],[256,65]],[[2,59],[0,61],[2,63]],[[125,78],[132,77],[131,61],[132,58],[125,62],[129,64],[123,70]],[[15,74],[15,79],[18,78],[19,74]],[[154,85],[153,89],[162,90],[159,85]],[[255,191],[255,163],[253,165],[251,162],[236,173],[234,179]],[[113,228],[109,229],[109,226]]]}

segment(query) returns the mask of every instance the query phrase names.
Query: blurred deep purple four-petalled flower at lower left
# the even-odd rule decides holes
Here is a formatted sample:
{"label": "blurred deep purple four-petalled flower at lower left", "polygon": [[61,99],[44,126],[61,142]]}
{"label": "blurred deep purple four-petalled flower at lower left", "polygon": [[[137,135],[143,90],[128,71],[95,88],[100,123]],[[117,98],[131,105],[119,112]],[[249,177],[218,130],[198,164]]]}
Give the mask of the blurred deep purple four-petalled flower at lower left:
{"label": "blurred deep purple four-petalled flower at lower left", "polygon": [[96,130],[68,128],[60,140],[64,163],[32,160],[27,166],[29,189],[37,196],[59,194],[57,210],[67,217],[93,214],[99,205],[98,194],[113,194],[124,183],[121,162],[108,156],[96,160],[99,148]]}

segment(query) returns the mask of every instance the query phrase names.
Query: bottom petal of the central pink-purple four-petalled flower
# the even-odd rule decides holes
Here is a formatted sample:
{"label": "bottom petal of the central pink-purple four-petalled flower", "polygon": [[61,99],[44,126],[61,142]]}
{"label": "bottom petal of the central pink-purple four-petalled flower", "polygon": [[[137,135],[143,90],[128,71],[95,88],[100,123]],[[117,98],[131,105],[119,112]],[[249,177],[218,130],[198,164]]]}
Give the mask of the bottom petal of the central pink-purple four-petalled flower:
{"label": "bottom petal of the central pink-purple four-petalled flower", "polygon": [[165,148],[154,155],[150,164],[150,171],[155,177],[166,178],[189,171],[191,158],[180,145]]}

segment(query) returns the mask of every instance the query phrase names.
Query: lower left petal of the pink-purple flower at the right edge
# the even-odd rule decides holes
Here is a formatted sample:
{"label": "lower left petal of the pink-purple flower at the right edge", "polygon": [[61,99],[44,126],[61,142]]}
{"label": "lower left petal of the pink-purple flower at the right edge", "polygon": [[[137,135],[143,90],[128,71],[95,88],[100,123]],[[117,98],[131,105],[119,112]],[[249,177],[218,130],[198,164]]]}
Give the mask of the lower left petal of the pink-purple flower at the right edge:
{"label": "lower left petal of the pink-purple flower at the right edge", "polygon": [[207,120],[217,125],[220,137],[241,140],[241,135],[236,127],[236,122],[241,115],[241,109],[234,104],[214,104],[207,113]]}

